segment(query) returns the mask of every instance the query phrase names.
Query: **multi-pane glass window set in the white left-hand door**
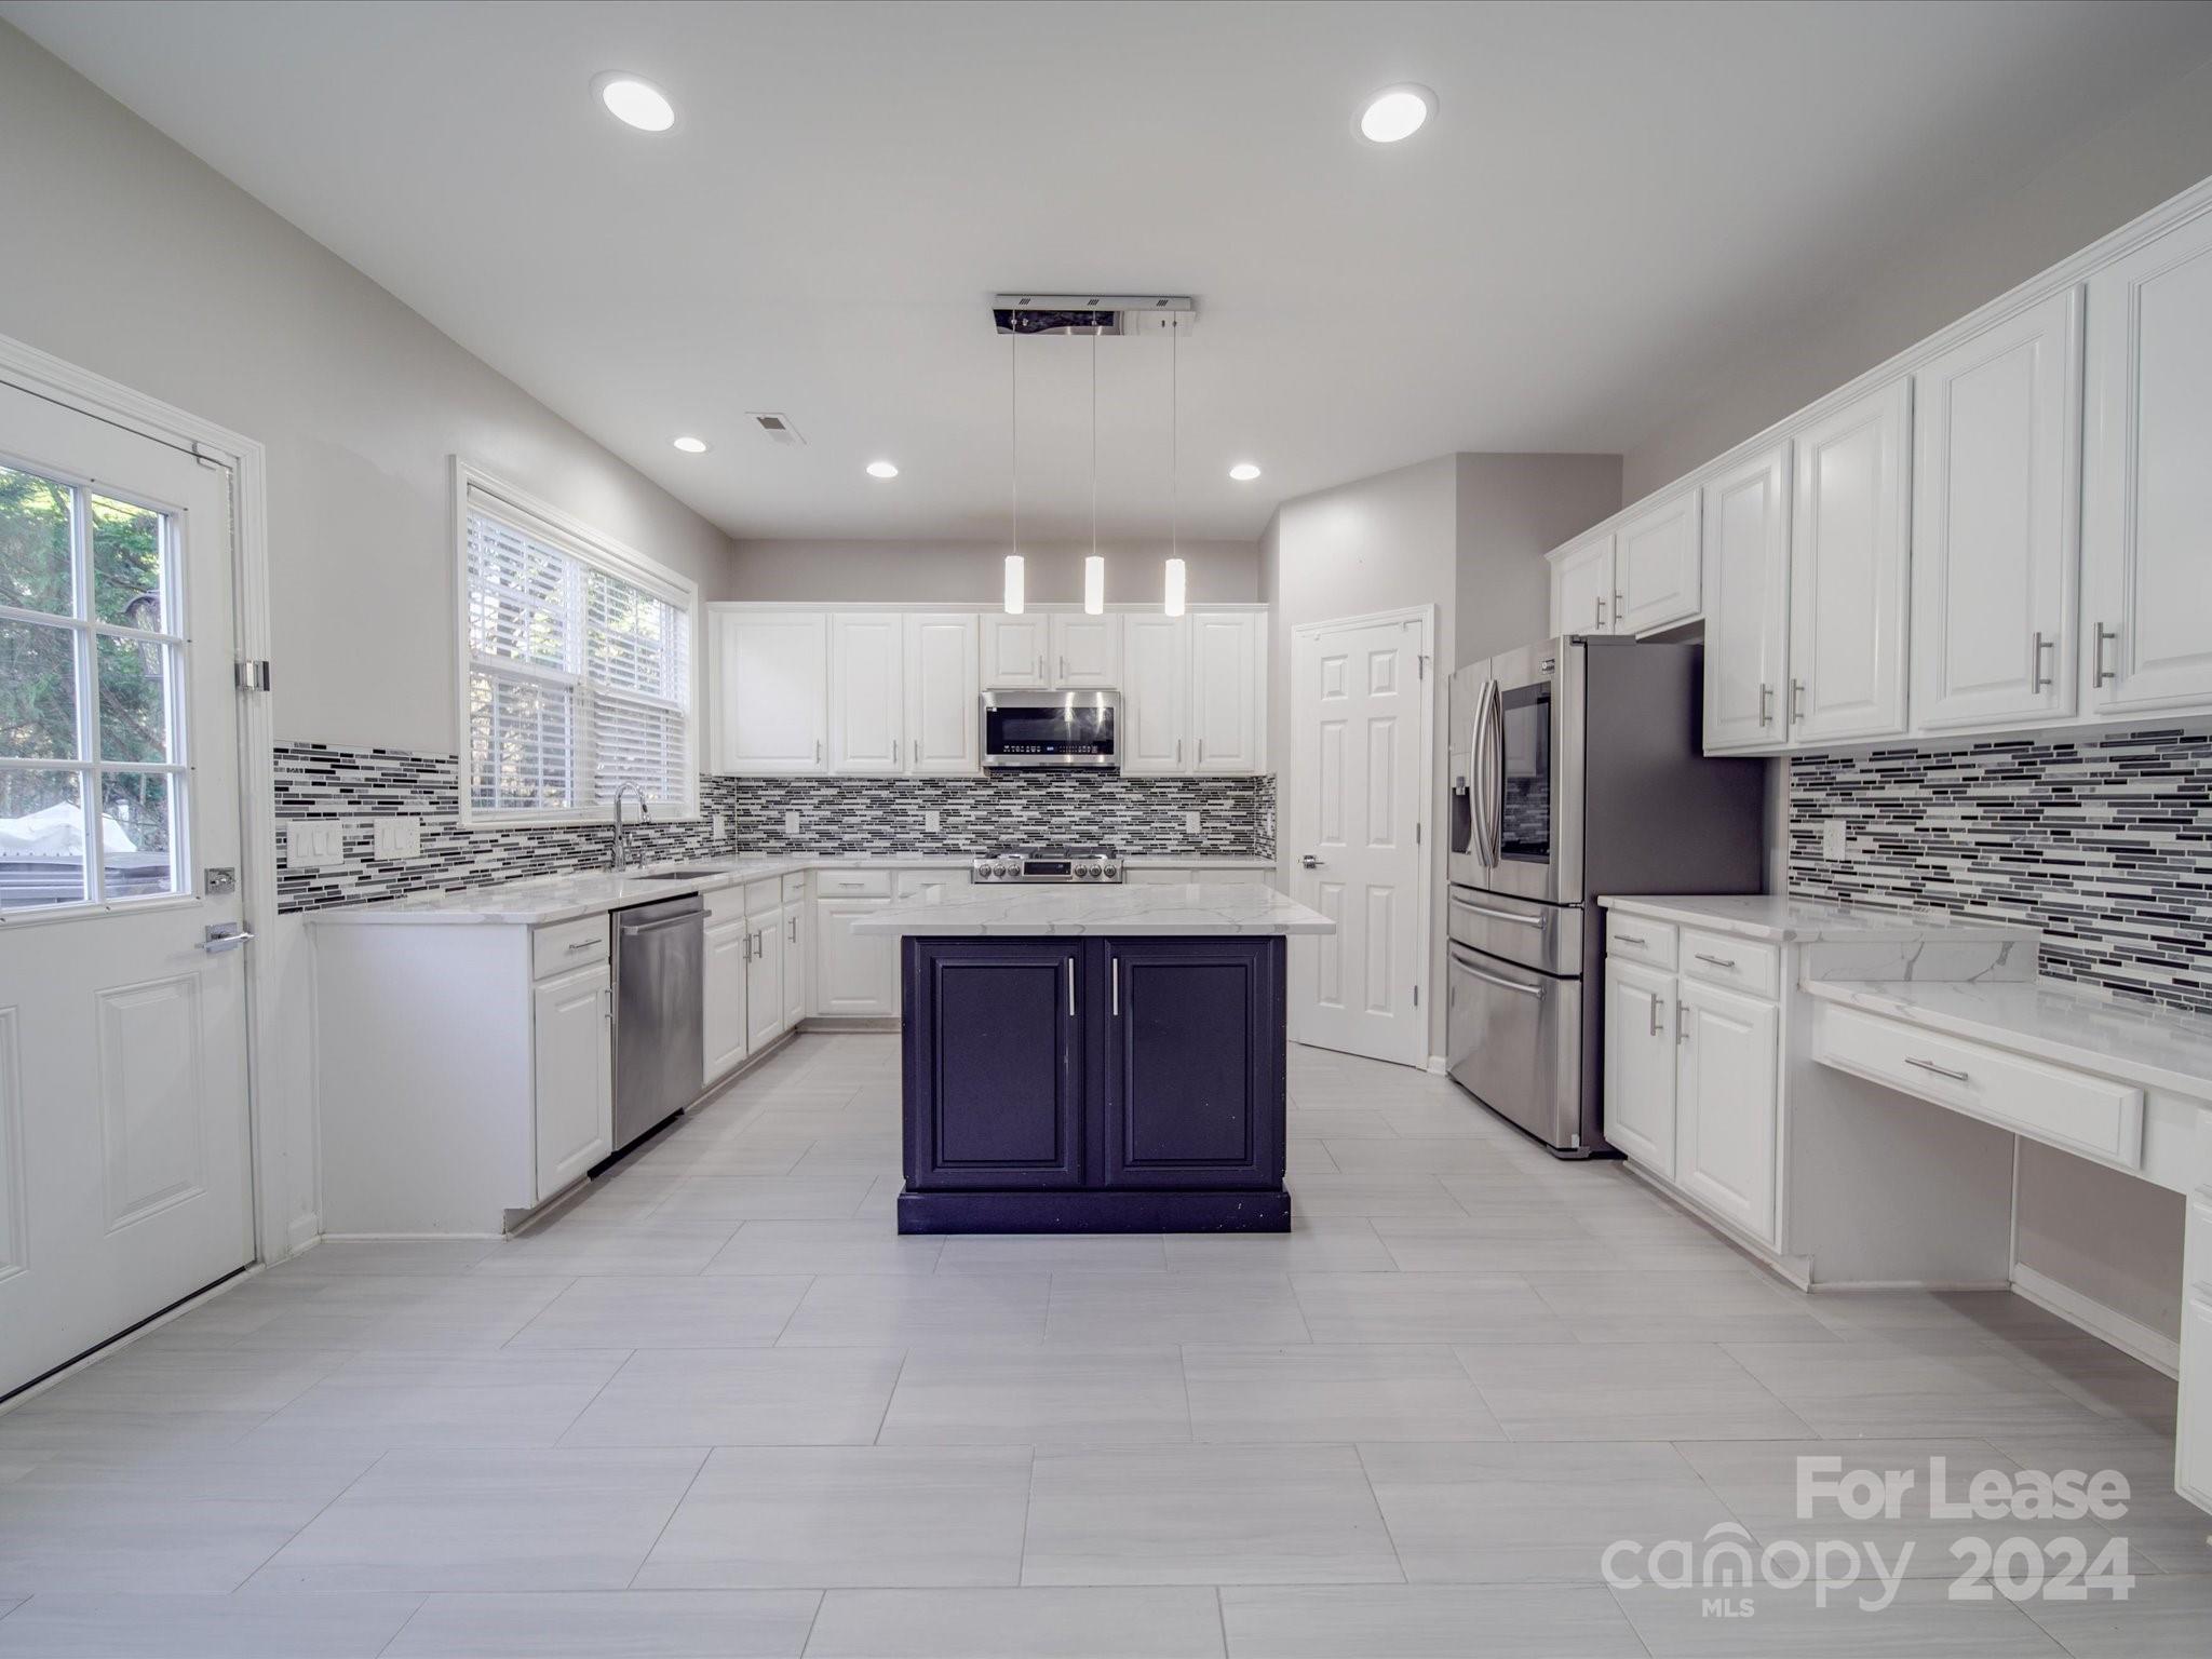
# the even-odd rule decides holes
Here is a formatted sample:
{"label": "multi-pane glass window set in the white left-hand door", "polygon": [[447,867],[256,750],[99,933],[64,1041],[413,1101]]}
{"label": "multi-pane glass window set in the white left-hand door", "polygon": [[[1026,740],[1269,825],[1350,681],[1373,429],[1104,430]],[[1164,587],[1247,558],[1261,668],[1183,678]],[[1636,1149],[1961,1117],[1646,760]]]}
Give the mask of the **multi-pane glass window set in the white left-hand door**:
{"label": "multi-pane glass window set in the white left-hand door", "polygon": [[0,462],[0,907],[184,889],[177,522]]}

